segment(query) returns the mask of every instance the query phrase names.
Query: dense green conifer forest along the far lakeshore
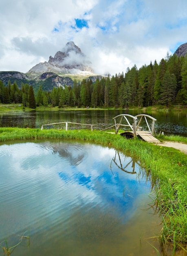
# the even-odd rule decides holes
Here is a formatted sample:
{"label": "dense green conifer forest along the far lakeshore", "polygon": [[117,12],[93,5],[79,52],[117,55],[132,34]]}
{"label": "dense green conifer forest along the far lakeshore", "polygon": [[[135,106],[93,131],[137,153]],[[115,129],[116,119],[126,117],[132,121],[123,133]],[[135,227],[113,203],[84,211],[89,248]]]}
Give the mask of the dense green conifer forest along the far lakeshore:
{"label": "dense green conifer forest along the far lakeshore", "polygon": [[42,85],[33,90],[29,83],[18,88],[16,81],[4,85],[0,81],[0,103],[22,103],[35,108],[37,105],[70,107],[128,108],[130,106],[153,106],[187,104],[187,56],[175,54],[143,65],[127,69],[125,74],[116,74],[111,78],[103,77],[95,83],[83,79],[74,80],[73,86],[54,87],[46,91]]}

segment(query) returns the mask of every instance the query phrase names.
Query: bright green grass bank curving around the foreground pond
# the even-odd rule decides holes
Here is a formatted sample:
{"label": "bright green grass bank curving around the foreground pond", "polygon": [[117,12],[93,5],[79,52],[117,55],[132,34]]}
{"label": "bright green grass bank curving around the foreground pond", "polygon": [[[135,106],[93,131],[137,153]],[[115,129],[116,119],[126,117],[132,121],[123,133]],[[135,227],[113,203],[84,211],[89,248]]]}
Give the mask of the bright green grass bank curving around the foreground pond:
{"label": "bright green grass bank curving around the foreground pond", "polygon": [[140,139],[125,139],[108,132],[0,128],[0,144],[17,139],[84,140],[114,147],[126,155],[135,157],[145,168],[147,175],[151,174],[152,187],[156,192],[154,209],[159,210],[163,216],[163,228],[158,234],[161,245],[185,249],[187,245],[187,155],[184,153]]}

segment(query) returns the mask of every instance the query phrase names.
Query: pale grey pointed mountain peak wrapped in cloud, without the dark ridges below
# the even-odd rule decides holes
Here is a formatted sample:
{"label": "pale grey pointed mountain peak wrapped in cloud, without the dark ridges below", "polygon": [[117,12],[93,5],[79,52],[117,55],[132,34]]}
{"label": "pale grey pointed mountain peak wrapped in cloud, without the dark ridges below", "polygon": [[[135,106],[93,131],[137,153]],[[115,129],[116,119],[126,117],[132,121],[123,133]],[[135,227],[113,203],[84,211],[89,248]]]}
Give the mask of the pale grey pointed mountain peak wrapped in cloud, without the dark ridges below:
{"label": "pale grey pointed mountain peak wrapped in cloud, without the dark ridges below", "polygon": [[45,72],[53,72],[58,75],[94,74],[91,62],[88,61],[86,56],[81,52],[81,49],[73,41],[68,42],[62,49],[62,52],[57,52],[54,58],[50,56],[48,62],[41,62],[32,67],[26,72],[26,75],[31,79],[35,79]]}

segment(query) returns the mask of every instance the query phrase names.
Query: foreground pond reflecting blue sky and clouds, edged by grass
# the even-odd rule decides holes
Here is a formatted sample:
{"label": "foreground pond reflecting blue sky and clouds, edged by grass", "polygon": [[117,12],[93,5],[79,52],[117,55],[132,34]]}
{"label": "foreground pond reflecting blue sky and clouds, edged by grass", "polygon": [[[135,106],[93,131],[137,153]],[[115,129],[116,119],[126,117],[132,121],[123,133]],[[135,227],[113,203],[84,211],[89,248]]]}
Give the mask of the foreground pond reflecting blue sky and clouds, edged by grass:
{"label": "foreground pond reflecting blue sky and clouds, edged by grass", "polygon": [[149,203],[144,170],[112,148],[0,144],[0,238],[11,247],[30,236],[14,256],[156,255],[161,220]]}

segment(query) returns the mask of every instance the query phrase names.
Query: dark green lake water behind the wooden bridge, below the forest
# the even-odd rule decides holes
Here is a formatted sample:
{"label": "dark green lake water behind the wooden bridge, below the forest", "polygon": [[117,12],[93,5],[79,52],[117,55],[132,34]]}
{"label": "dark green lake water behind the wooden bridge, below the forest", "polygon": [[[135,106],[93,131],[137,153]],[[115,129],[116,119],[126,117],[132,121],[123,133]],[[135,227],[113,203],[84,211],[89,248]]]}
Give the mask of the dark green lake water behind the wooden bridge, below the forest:
{"label": "dark green lake water behind the wooden bridge, below the forest", "polygon": [[[114,125],[114,120],[112,118],[124,113],[130,115],[144,113],[156,118],[155,130],[157,133],[161,131],[165,134],[187,136],[187,113],[164,111],[143,112],[129,110],[127,112],[125,110],[59,110],[55,112],[1,112],[0,126],[41,128],[42,124],[70,121],[81,124],[94,124],[95,129],[101,130]],[[51,127],[57,128],[57,126]],[[70,127],[70,125],[68,127]],[[65,128],[65,125],[60,128]],[[80,128],[80,126],[78,126],[78,128]],[[87,127],[84,126],[84,128]]]}

